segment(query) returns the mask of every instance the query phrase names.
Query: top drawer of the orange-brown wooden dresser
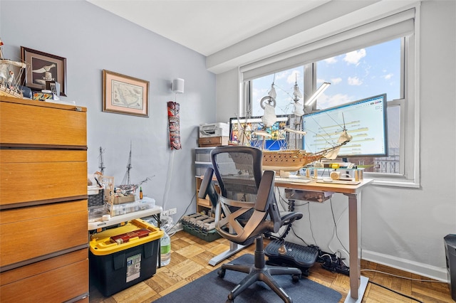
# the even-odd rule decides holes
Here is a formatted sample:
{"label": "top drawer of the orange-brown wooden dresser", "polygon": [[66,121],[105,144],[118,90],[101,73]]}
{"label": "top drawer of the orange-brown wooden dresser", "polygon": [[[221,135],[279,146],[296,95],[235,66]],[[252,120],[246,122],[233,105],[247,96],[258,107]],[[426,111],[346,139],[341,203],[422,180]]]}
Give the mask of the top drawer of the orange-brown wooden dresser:
{"label": "top drawer of the orange-brown wooden dresser", "polygon": [[1,144],[63,145],[87,149],[86,112],[43,102],[0,102]]}

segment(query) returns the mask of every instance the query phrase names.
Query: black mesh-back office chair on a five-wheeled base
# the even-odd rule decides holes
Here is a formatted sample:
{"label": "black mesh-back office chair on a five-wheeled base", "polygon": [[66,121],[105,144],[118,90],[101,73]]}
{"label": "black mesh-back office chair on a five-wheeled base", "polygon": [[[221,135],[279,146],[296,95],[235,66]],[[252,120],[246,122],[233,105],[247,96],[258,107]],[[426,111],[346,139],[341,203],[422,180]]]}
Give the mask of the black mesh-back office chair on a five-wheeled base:
{"label": "black mesh-back office chair on a five-wheeled base", "polygon": [[[216,147],[211,151],[212,166],[204,174],[199,188],[199,198],[209,196],[215,209],[215,228],[223,238],[241,245],[255,241],[254,264],[225,263],[218,271],[224,277],[226,270],[247,273],[228,294],[227,302],[234,302],[244,289],[257,281],[263,281],[284,302],[292,302],[273,275],[291,275],[294,282],[301,278],[301,270],[293,267],[266,265],[264,257],[264,233],[277,233],[283,225],[302,218],[302,213],[280,213],[274,196],[274,171],[262,171],[263,154],[254,147]],[[217,176],[220,193],[212,183],[213,172]]]}

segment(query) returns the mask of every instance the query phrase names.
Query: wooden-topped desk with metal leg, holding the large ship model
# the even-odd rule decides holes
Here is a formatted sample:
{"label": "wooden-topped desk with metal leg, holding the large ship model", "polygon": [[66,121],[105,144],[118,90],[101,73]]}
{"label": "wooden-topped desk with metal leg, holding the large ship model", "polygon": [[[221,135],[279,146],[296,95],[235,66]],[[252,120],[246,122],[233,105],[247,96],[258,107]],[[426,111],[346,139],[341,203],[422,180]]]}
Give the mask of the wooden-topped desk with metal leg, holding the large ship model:
{"label": "wooden-topped desk with metal leg, holding the large ship model", "polygon": [[302,191],[332,191],[343,193],[348,196],[348,247],[350,250],[350,292],[345,302],[361,302],[363,294],[368,284],[367,277],[361,277],[360,252],[361,252],[361,233],[359,225],[361,223],[361,191],[373,180],[363,179],[358,185],[317,183],[312,181],[307,184],[299,184],[291,181],[276,181],[275,186],[291,188]]}

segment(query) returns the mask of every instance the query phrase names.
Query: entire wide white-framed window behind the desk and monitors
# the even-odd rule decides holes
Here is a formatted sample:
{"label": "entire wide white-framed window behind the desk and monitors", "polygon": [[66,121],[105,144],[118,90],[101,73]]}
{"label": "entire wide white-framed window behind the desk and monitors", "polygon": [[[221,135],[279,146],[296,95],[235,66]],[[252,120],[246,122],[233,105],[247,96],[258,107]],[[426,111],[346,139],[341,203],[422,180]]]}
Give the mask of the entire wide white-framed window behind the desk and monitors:
{"label": "entire wide white-framed window behind the desk and monitors", "polygon": [[[272,63],[269,60],[264,65],[255,63],[252,67],[241,67],[242,77],[247,83],[244,87],[250,89],[246,93],[246,104],[250,105],[247,112],[254,116],[263,115],[259,100],[268,94],[272,83],[277,93],[276,115],[289,115],[294,110],[295,83],[304,98],[312,95],[321,83],[331,83],[314,107],[306,108],[306,112],[386,93],[388,157],[350,158],[349,161],[369,167],[366,177],[375,179],[377,184],[418,186],[415,9],[380,19],[375,26],[375,22],[366,24],[366,27],[373,27],[368,34],[368,30],[360,30],[363,26],[341,33],[341,36],[349,37],[347,43],[341,43],[341,37],[324,38],[319,48],[314,50],[306,46],[297,55],[295,49],[293,56],[284,54],[276,56],[279,59]],[[391,21],[393,25],[386,21],[388,18],[395,18]],[[388,26],[383,23],[388,23]],[[357,36],[357,32],[362,34]],[[351,44],[357,47],[353,48]]]}

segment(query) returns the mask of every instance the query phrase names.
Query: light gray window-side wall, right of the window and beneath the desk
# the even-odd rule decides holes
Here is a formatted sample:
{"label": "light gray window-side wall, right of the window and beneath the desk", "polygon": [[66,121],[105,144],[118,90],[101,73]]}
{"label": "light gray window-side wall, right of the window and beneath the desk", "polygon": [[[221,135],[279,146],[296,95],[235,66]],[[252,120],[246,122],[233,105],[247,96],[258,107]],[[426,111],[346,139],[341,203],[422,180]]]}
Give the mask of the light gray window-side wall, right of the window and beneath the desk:
{"label": "light gray window-side wall, right of the window and beneath the desk", "polygon": [[[420,188],[368,186],[361,206],[363,259],[440,280],[447,279],[443,237],[456,233],[455,14],[455,1],[421,3],[417,58]],[[223,103],[217,104],[218,120],[227,120],[238,112],[237,103],[227,105],[227,100],[239,100],[237,92],[219,87],[237,87],[238,83],[237,69],[217,75],[217,103]],[[348,248],[347,202],[345,196],[334,195],[332,209],[329,201],[299,208],[304,219],[294,224],[294,230],[307,243],[329,252],[340,250],[348,257],[343,252]],[[333,216],[338,222],[338,238]],[[287,239],[301,243],[289,235]]]}

